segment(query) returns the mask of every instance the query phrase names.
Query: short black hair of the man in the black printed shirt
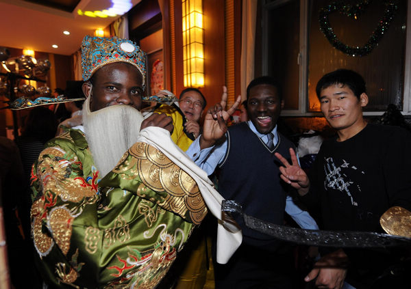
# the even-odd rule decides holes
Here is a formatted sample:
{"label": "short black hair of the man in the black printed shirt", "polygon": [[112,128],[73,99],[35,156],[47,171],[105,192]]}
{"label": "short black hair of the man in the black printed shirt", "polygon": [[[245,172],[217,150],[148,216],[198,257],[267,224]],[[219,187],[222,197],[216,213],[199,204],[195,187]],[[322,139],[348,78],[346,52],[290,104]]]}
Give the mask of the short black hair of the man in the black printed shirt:
{"label": "short black hair of the man in the black printed shirt", "polygon": [[317,97],[320,99],[321,90],[332,85],[347,86],[358,99],[360,99],[361,94],[366,92],[365,81],[360,74],[349,69],[338,69],[321,77],[315,89]]}

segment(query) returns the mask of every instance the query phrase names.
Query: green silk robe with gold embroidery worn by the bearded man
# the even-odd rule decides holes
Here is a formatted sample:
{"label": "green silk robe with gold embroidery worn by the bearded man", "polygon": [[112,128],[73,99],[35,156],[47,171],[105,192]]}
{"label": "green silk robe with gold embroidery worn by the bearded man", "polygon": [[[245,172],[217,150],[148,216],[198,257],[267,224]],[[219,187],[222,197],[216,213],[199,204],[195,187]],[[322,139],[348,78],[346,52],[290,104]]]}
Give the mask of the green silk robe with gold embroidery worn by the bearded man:
{"label": "green silk robe with gold embroidery worn by the bearded man", "polygon": [[36,261],[58,288],[154,288],[208,211],[197,183],[144,142],[100,180],[79,130],[47,143],[32,185]]}

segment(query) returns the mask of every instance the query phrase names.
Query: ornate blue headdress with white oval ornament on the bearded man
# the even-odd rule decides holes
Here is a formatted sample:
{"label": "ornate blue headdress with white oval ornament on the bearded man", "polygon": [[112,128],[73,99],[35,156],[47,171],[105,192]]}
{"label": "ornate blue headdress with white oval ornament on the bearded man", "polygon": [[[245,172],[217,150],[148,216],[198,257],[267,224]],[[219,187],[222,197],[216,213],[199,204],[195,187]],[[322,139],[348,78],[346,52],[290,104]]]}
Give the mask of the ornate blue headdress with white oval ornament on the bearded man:
{"label": "ornate blue headdress with white oval ornament on the bearded man", "polygon": [[88,81],[92,74],[105,64],[127,62],[138,68],[145,86],[146,55],[134,42],[114,37],[84,37],[82,43],[83,79]]}

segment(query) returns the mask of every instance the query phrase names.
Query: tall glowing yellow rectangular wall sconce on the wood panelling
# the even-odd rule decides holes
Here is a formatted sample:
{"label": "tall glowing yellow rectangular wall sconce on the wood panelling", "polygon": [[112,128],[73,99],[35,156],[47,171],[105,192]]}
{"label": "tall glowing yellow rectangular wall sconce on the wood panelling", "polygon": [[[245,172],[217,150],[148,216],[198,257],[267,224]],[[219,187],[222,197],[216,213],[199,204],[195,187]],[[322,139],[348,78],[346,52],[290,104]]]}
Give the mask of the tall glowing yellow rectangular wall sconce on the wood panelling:
{"label": "tall glowing yellow rectangular wall sconce on the wood panelling", "polygon": [[182,0],[184,87],[204,86],[203,1]]}

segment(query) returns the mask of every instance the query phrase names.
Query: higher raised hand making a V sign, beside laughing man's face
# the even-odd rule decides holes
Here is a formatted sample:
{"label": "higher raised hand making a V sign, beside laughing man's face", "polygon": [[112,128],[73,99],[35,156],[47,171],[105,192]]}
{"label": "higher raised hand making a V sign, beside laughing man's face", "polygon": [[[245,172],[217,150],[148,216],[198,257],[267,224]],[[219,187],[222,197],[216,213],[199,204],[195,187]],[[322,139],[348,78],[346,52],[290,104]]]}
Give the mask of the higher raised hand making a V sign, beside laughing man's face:
{"label": "higher raised hand making a V sign, beside laughing man's face", "polygon": [[200,148],[209,148],[221,139],[227,132],[227,120],[236,111],[241,103],[241,96],[238,96],[234,105],[225,111],[227,105],[227,87],[223,86],[223,95],[220,103],[208,109],[204,119],[203,133],[200,138]]}

